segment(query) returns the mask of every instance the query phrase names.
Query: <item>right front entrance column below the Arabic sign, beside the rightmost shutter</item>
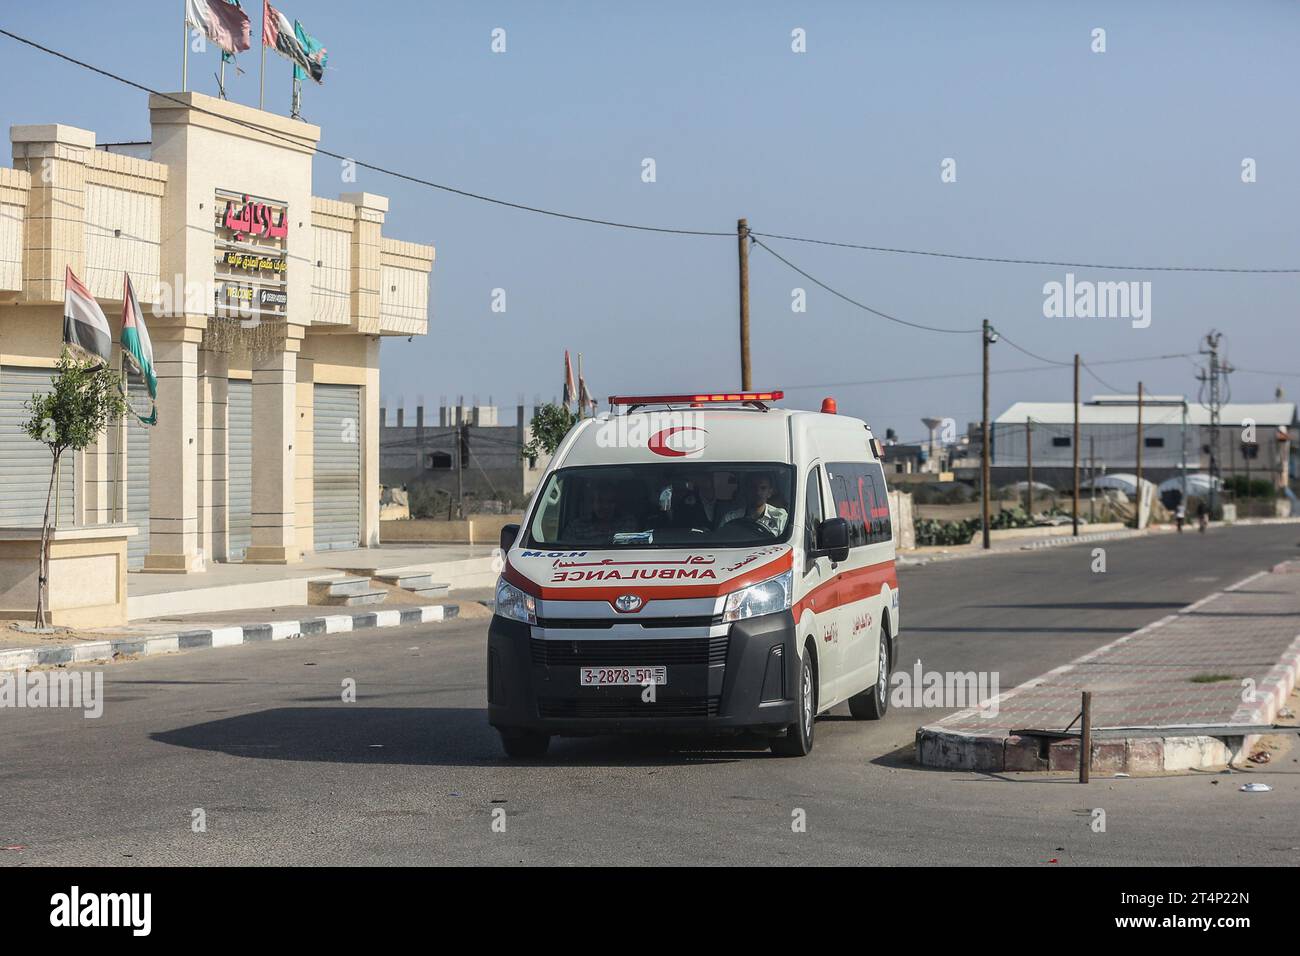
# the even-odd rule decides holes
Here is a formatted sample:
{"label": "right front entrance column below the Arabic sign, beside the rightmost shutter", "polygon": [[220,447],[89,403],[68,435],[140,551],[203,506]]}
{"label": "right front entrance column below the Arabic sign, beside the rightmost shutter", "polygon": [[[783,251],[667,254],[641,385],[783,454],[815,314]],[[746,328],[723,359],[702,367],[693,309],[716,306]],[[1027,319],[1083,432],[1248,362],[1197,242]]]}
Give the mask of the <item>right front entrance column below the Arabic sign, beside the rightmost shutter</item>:
{"label": "right front entrance column below the Arabic sign, beside the rightmost shutter", "polygon": [[294,522],[300,342],[286,337],[276,351],[252,356],[252,544],[246,564],[302,561]]}

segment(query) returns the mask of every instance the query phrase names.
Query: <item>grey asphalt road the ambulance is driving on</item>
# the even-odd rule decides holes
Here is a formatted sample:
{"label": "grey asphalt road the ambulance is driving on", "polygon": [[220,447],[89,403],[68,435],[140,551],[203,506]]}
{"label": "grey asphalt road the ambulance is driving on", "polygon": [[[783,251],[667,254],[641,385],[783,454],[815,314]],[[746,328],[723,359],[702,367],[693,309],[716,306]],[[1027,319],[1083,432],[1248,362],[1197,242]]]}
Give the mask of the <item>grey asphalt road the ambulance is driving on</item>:
{"label": "grey asphalt road the ambulance is driving on", "polygon": [[[1006,689],[1300,557],[1300,527],[1102,546],[1105,574],[1091,545],[904,570],[904,666],[997,670]],[[876,723],[822,719],[803,760],[581,739],[508,762],[484,711],[485,631],[126,662],[103,669],[100,719],[0,710],[0,847],[23,847],[0,865],[1300,864],[1295,749],[1251,773],[1270,793],[1213,774],[1082,787],[923,770],[913,735],[942,711],[894,708]],[[205,832],[191,830],[196,809]]]}

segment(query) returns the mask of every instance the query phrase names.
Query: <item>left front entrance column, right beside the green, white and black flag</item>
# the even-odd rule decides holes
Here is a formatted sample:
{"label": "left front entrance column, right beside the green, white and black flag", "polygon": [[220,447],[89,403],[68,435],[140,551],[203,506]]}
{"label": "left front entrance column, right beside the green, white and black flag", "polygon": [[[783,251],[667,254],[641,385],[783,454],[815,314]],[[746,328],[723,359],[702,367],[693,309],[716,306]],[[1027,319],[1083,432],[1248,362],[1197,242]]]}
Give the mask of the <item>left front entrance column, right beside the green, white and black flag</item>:
{"label": "left front entrance column, right beside the green, white and black flag", "polygon": [[198,376],[203,330],[155,320],[150,337],[159,377],[159,421],[150,436],[150,553],[144,570],[203,571]]}

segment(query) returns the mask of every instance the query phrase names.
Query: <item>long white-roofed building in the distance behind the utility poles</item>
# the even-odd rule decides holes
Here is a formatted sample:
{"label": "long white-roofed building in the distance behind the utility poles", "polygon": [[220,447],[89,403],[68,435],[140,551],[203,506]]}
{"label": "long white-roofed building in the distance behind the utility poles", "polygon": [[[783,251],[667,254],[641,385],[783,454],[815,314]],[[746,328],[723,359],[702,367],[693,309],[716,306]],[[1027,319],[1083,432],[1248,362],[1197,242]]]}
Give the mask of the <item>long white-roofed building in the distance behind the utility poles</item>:
{"label": "long white-roofed building in the distance behind the utility poles", "polygon": [[[1027,424],[1028,423],[1028,424]],[[1209,471],[1212,455],[1222,477],[1268,477],[1284,488],[1296,475],[1292,462],[1297,437],[1294,402],[1232,402],[1219,411],[1219,427],[1209,410],[1183,395],[1143,397],[1143,477],[1160,483],[1187,471]],[[1253,429],[1254,441],[1244,441]],[[1074,403],[1017,402],[997,416],[992,428],[994,484],[1024,479],[1027,446],[1032,446],[1034,479],[1058,488],[1072,480]],[[1079,464],[1084,477],[1131,472],[1138,464],[1138,397],[1093,395],[1079,406]]]}

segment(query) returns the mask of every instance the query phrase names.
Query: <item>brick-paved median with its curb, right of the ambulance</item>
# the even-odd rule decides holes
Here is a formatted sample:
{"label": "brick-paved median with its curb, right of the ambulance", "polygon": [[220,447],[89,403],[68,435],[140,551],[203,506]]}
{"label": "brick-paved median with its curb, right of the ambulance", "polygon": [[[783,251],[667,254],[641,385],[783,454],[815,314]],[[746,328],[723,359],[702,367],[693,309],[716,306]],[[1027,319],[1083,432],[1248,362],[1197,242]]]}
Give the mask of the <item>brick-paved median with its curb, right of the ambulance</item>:
{"label": "brick-paved median with its curb, right of the ambulance", "polygon": [[1287,562],[1020,684],[983,711],[920,727],[918,760],[966,770],[1078,770],[1076,739],[1013,731],[1078,731],[1080,696],[1091,691],[1092,726],[1102,731],[1093,769],[1227,763],[1257,735],[1208,731],[1277,719],[1300,671],[1297,635],[1300,562]]}

